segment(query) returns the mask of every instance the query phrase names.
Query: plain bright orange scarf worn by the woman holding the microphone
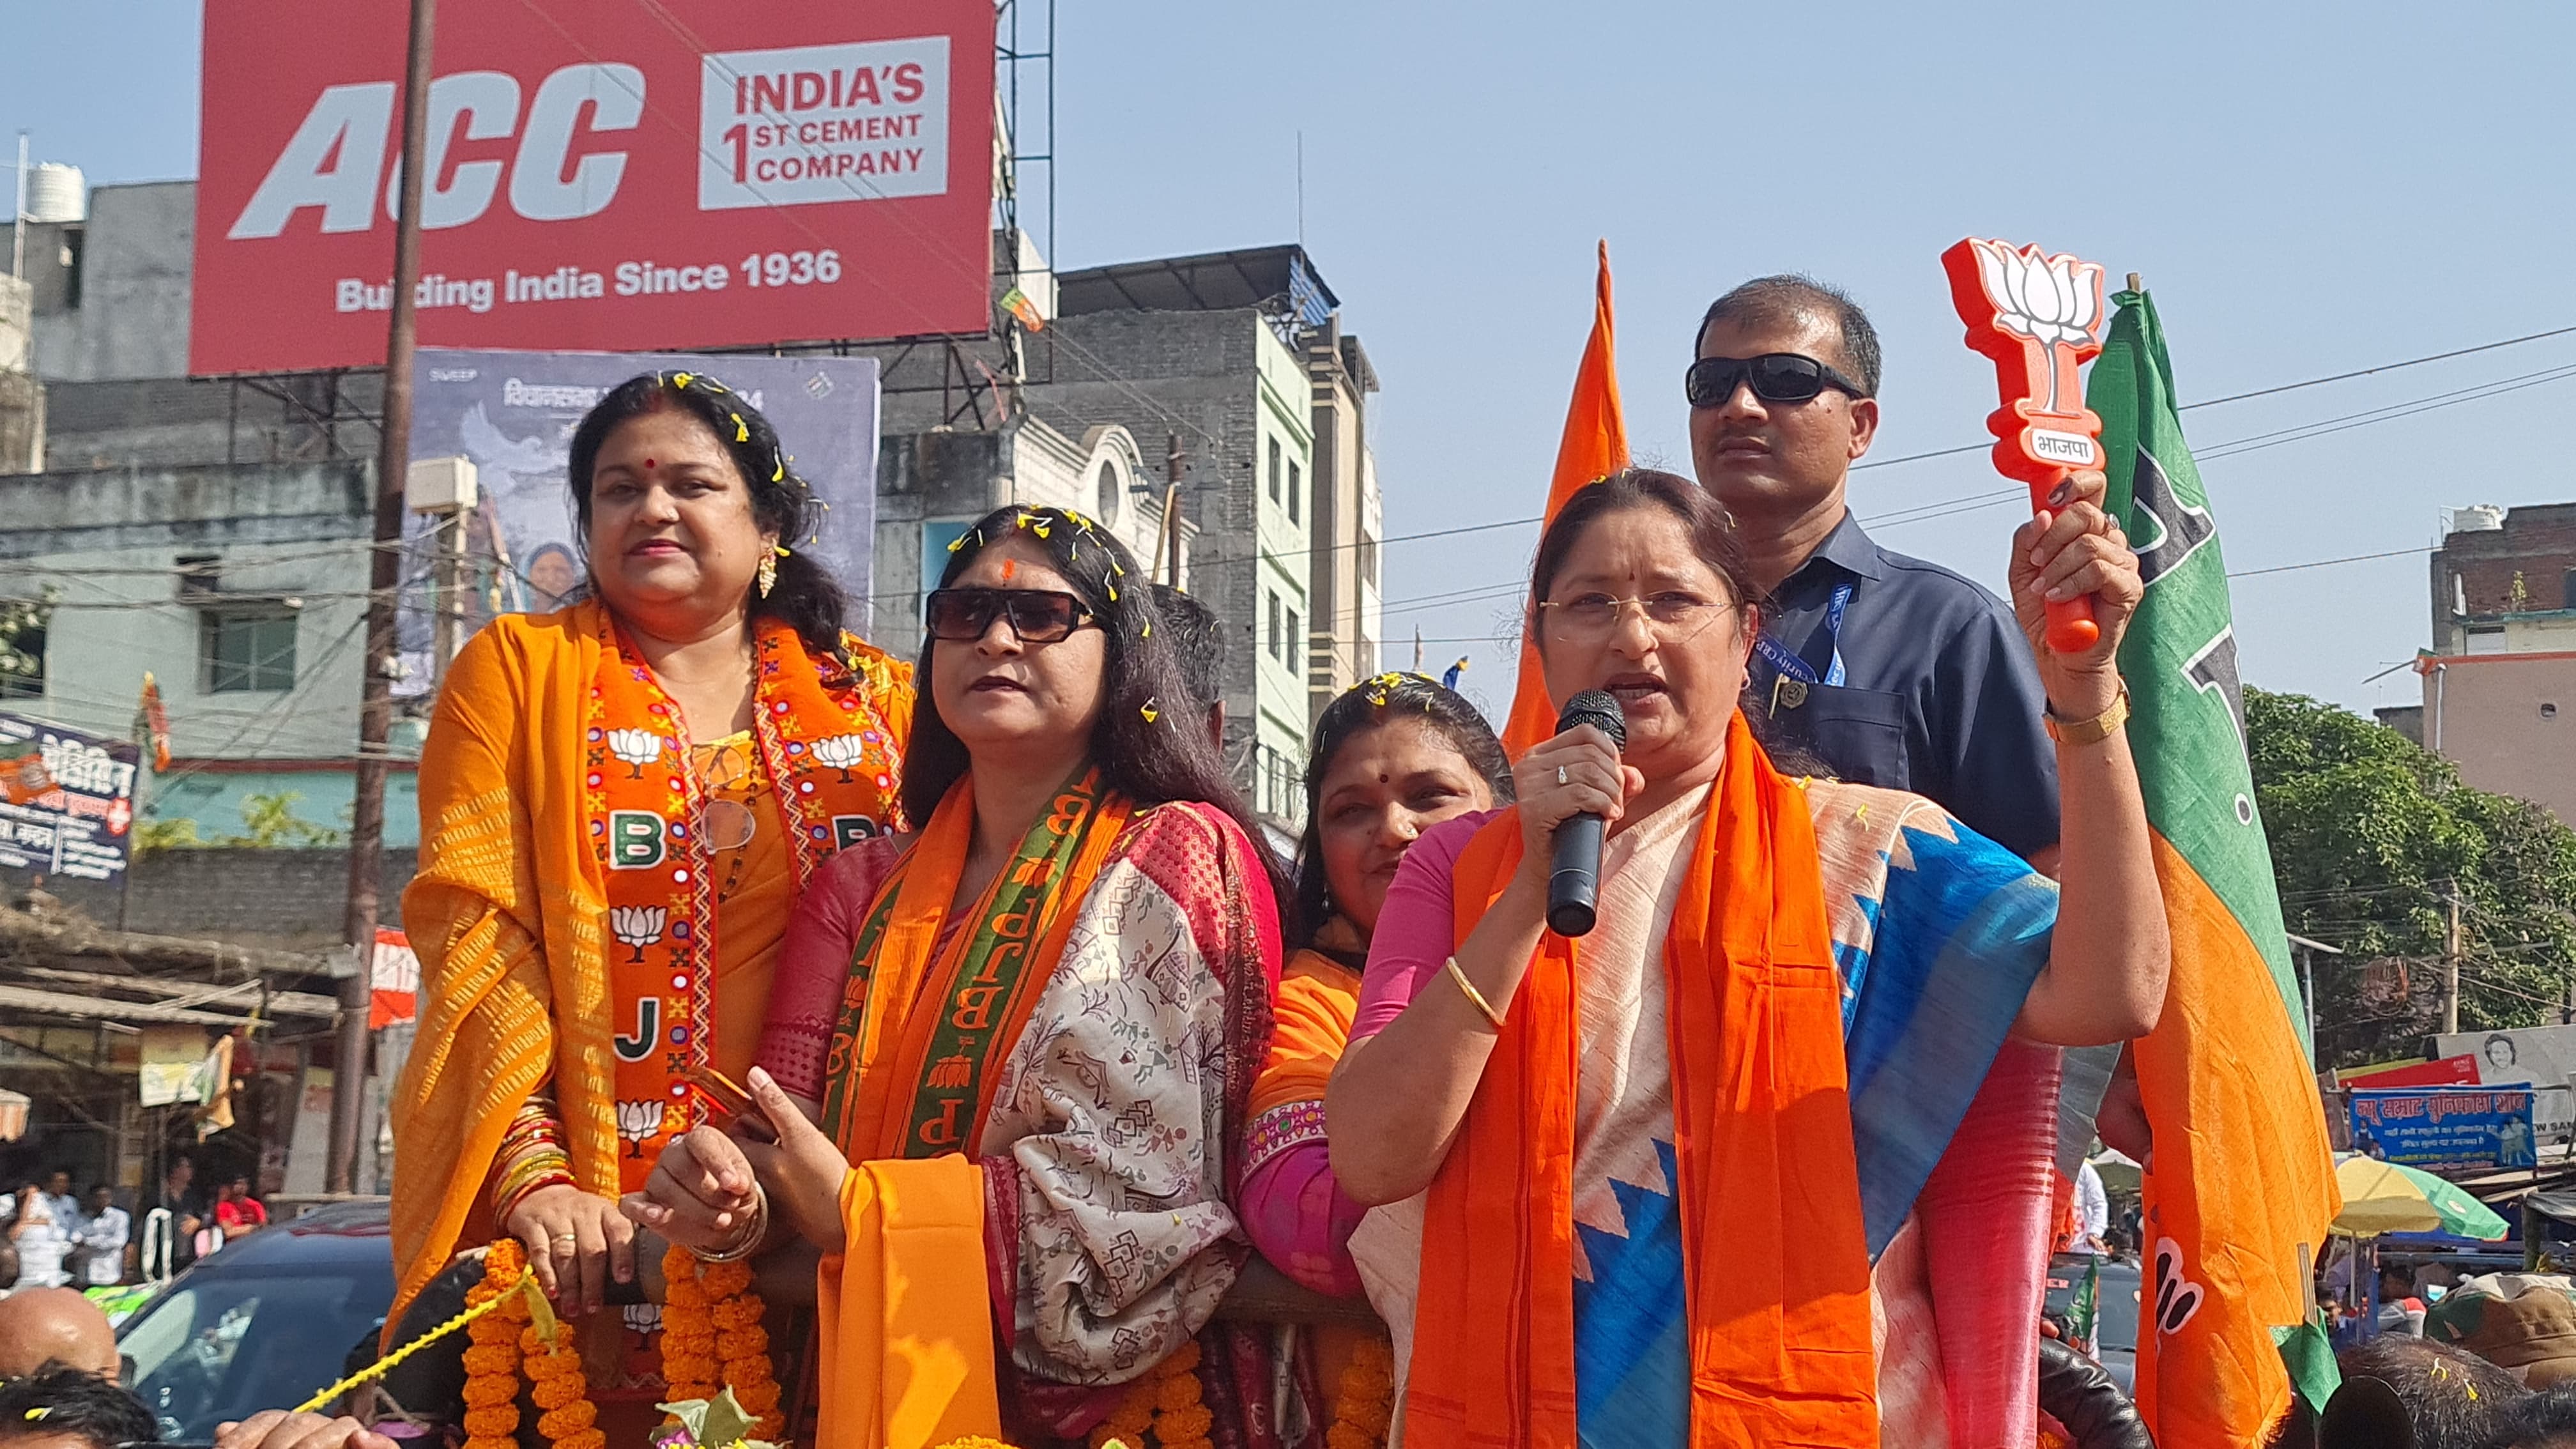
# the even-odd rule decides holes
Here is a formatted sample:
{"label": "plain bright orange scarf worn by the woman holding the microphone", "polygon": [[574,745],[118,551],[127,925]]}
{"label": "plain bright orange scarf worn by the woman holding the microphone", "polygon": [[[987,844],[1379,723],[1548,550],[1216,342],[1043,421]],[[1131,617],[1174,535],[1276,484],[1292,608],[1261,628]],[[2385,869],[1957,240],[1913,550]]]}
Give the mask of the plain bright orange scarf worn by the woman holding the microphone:
{"label": "plain bright orange scarf worn by the woman holding the microphone", "polygon": [[[1455,931],[1520,864],[1517,812],[1458,859]],[[1577,946],[1543,936],[1432,1178],[1406,1444],[1571,1449]],[[1690,1315],[1690,1444],[1878,1444],[1870,1256],[1842,972],[1803,792],[1741,714],[1664,944]]]}

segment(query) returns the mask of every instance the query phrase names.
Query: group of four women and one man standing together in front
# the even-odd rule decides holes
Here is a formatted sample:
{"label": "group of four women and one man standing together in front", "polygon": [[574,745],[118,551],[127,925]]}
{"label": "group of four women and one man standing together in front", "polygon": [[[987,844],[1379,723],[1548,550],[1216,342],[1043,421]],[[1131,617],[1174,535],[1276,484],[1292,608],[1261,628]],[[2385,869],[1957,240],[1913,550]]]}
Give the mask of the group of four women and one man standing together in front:
{"label": "group of four women and one man standing together in front", "polygon": [[[1698,477],[1595,480],[1535,552],[1546,694],[1615,706],[1510,758],[1368,678],[1293,861],[1226,624],[1110,531],[976,521],[907,665],[757,407],[621,384],[580,598],[471,639],[420,761],[386,1343],[523,1256],[587,1379],[523,1418],[469,1377],[484,1441],[641,1444],[721,1385],[824,1449],[2030,1444],[2056,1049],[2143,1034],[2169,967],[2143,590],[2094,472],[2009,603],[1868,539],[1878,382],[1839,291],[1721,297]],[[2048,650],[2050,601],[2099,642]],[[1236,1312],[1255,1258],[1342,1307]]]}

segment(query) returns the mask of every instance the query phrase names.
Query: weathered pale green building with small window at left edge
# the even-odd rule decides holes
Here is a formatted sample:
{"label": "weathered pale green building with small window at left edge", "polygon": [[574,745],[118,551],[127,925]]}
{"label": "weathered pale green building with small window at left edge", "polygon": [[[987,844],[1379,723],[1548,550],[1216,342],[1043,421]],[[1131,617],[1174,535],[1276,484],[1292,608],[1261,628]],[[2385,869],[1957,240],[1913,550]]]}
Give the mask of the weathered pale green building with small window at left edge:
{"label": "weathered pale green building with small window at left edge", "polygon": [[[348,825],[376,467],[198,464],[0,477],[0,590],[52,596],[33,678],[0,709],[131,737],[149,670],[170,768],[144,838],[325,846]],[[417,722],[397,748],[417,748]],[[417,841],[412,768],[386,843]],[[183,825],[185,822],[185,825]]]}

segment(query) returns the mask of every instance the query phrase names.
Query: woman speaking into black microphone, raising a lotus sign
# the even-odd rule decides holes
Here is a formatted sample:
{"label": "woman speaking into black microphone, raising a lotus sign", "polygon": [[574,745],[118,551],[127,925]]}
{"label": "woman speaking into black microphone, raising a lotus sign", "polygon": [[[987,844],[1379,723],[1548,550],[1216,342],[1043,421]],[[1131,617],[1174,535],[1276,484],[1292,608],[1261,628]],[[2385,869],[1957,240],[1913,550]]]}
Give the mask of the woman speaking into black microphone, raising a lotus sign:
{"label": "woman speaking into black microphone, raising a lotus sign", "polygon": [[[1736,709],[1754,596],[1698,485],[1623,472],[1548,526],[1548,696],[1607,691],[1625,750],[1577,724],[1515,766],[1517,807],[1404,856],[1327,1098],[1334,1176],[1376,1204],[1352,1256],[1396,1333],[1404,1444],[1935,1439],[1945,1372],[1978,1366],[1940,1361],[1917,1196],[2007,1036],[2120,1042],[2164,1003],[2115,668],[2143,590],[2099,492],[2012,559],[2027,629],[2050,596],[2102,627],[2038,650],[2063,913],[1929,799],[1772,766]],[[1546,902],[1577,815],[1607,841],[1569,941]],[[2014,1150],[2038,1168],[2053,1137]]]}

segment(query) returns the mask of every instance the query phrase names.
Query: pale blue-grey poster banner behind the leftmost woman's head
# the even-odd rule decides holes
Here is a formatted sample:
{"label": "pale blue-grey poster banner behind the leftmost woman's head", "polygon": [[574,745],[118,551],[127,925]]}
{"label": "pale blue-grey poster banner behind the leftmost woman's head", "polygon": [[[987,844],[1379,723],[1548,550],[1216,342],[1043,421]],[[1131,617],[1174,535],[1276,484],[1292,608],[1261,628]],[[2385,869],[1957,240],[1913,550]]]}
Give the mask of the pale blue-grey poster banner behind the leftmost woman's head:
{"label": "pale blue-grey poster banner behind the leftmost woman's head", "polygon": [[[778,428],[796,472],[829,505],[811,552],[850,596],[850,629],[868,629],[876,559],[876,358],[696,353],[492,353],[422,348],[415,364],[412,456],[474,459],[482,500],[469,531],[489,588],[469,588],[474,627],[495,611],[546,614],[582,583],[567,451],[582,413],[641,371],[701,371],[742,392]],[[402,596],[404,678],[430,688],[430,521],[412,516]]]}

